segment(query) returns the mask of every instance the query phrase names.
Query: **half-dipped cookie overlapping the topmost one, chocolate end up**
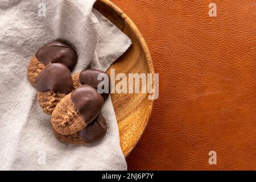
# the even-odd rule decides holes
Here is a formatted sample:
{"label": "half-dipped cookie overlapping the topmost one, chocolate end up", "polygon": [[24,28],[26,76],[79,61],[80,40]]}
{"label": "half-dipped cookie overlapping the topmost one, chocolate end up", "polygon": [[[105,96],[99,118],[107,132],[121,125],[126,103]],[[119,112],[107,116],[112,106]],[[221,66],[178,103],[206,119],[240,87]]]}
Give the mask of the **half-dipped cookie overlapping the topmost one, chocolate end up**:
{"label": "half-dipped cookie overlapping the topmost one, chocolate end up", "polygon": [[51,115],[61,98],[73,90],[71,72],[64,64],[48,64],[36,77],[35,86],[40,107]]}

